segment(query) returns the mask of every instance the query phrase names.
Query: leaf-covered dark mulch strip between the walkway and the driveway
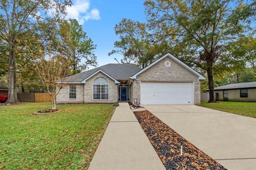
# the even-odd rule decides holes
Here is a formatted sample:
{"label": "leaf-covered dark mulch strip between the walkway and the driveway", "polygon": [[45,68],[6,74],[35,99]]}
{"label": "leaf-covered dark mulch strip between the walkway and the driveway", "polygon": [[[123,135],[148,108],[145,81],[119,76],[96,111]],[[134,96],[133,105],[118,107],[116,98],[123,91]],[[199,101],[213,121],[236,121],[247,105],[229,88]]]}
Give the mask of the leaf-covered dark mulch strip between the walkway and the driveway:
{"label": "leaf-covered dark mulch strip between the walkway and the driveway", "polygon": [[150,112],[138,111],[134,115],[167,170],[226,169]]}

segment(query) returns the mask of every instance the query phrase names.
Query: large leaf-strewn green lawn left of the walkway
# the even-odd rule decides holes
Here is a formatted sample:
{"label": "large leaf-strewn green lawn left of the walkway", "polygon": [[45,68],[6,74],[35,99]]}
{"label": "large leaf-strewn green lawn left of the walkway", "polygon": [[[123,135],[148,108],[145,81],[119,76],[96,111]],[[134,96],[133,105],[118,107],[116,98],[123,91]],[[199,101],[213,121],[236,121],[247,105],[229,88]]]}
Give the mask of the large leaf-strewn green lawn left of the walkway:
{"label": "large leaf-strewn green lawn left of the walkway", "polygon": [[0,169],[86,169],[106,130],[111,105],[0,106]]}

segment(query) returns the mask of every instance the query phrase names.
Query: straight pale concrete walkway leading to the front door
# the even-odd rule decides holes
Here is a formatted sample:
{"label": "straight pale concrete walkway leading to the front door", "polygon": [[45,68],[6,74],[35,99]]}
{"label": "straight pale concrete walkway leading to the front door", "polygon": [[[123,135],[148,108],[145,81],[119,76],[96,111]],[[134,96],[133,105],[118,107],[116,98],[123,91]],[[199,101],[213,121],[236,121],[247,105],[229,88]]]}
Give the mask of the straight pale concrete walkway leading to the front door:
{"label": "straight pale concrete walkway leading to the front door", "polygon": [[165,169],[127,103],[119,103],[89,170]]}

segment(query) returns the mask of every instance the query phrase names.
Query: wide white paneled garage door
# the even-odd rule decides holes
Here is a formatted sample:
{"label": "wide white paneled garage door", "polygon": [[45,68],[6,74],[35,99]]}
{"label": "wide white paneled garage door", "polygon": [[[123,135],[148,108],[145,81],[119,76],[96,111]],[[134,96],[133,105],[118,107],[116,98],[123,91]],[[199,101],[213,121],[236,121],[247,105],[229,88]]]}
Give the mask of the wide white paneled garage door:
{"label": "wide white paneled garage door", "polygon": [[194,104],[192,82],[141,82],[142,105]]}

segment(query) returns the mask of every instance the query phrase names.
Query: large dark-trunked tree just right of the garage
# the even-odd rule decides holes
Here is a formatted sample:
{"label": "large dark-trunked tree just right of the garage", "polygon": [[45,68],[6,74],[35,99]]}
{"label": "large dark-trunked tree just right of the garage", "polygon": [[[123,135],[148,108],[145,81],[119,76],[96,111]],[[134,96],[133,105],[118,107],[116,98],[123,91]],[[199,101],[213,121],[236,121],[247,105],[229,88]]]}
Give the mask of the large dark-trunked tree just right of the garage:
{"label": "large dark-trunked tree just right of the garage", "polygon": [[[221,71],[230,58],[223,48],[243,31],[229,23],[231,0],[147,0],[149,28],[156,37],[171,39],[180,48],[183,61],[207,72],[210,99],[214,102],[213,72]],[[161,39],[160,39],[161,40]],[[218,69],[217,69],[218,68]],[[214,70],[215,69],[215,70]]]}

